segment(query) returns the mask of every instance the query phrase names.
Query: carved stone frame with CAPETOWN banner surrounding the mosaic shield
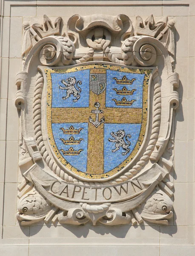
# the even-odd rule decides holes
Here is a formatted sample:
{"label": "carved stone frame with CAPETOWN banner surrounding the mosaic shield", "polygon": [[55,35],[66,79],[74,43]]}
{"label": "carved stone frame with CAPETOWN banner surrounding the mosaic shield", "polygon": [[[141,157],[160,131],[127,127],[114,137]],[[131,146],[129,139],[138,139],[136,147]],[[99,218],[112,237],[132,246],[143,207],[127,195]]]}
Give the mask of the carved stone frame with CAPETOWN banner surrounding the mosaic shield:
{"label": "carved stone frame with CAPETOWN banner surrounding the mosaic shield", "polygon": [[[135,26],[126,15],[74,15],[67,28],[44,15],[43,26],[24,24],[23,71],[16,76],[15,105],[20,109],[17,218],[22,225],[168,224],[172,218],[174,109],[174,21],[151,15]],[[46,78],[43,68],[104,64],[151,68],[149,115],[143,144],[134,159],[111,177],[87,179],[60,164],[48,142]],[[101,198],[97,200],[97,192]]]}

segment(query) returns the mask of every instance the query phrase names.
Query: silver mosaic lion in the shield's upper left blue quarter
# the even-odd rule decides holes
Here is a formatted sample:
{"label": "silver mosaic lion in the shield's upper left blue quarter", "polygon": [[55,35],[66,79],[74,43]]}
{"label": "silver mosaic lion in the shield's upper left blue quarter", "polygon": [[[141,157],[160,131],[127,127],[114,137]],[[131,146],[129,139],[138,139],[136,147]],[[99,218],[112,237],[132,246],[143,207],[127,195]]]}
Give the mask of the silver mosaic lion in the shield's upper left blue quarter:
{"label": "silver mosaic lion in the shield's upper left blue quarter", "polygon": [[[81,93],[81,88],[77,85],[77,84],[82,84],[82,82],[79,80],[76,83],[76,78],[75,77],[69,77],[66,80],[62,79],[61,82],[66,86],[59,86],[59,89],[61,90],[67,90],[66,91],[66,96],[62,97],[62,99],[66,100],[68,99],[71,95],[73,95],[74,97],[76,97],[76,99],[73,99],[73,102],[77,102],[80,99],[80,93]],[[75,88],[75,84],[76,87],[78,88],[78,90]]]}

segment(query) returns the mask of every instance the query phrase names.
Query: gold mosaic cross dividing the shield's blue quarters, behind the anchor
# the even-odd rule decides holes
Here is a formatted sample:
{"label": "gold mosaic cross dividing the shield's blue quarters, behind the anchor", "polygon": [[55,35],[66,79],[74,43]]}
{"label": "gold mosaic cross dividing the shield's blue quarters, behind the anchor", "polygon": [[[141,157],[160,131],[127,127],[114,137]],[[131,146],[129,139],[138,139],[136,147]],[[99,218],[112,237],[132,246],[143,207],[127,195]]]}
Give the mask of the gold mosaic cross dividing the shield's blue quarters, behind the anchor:
{"label": "gold mosaic cross dividing the shield's blue quarters, behind the anchor", "polygon": [[89,122],[89,116],[92,116],[95,102],[100,103],[100,109],[103,111],[102,114],[99,114],[99,118],[104,116],[104,123],[109,124],[141,123],[142,108],[106,108],[106,91],[97,95],[91,90],[89,91],[89,108],[52,108],[52,123],[88,122],[87,173],[103,174],[104,123],[96,128]]}

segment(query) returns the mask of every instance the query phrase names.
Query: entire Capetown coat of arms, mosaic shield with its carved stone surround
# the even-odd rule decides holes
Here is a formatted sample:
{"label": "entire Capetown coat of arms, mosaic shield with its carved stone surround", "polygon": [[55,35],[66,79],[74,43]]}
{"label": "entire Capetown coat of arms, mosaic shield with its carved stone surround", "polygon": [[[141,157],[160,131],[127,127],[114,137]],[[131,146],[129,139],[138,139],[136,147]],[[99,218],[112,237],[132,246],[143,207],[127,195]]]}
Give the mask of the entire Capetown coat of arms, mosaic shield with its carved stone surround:
{"label": "entire Capetown coat of arms, mosaic shield with its carved stone surround", "polygon": [[17,219],[172,220],[174,20],[74,15],[23,24]]}

